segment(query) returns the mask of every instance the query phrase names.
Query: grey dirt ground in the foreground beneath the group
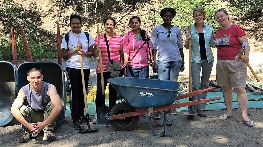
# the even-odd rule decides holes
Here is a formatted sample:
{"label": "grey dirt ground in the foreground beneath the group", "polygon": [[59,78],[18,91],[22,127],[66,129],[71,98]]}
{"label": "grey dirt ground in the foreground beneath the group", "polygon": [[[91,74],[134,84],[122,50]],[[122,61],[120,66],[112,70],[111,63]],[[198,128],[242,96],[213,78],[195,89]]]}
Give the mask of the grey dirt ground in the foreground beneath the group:
{"label": "grey dirt ground in the foreground beneath the group", "polygon": [[[58,138],[55,142],[43,141],[43,135],[39,135],[36,140],[21,144],[18,138],[24,132],[16,120],[13,120],[8,126],[0,127],[0,144],[1,146],[263,146],[262,109],[248,110],[255,127],[244,125],[239,110],[234,110],[232,118],[219,120],[218,117],[224,114],[224,111],[206,111],[208,115],[206,118],[195,116],[191,120],[181,112],[175,116],[167,114],[173,123],[173,126],[168,126],[171,138],[154,136],[141,116],[132,131],[121,132],[113,130],[112,127],[99,127],[98,132],[86,134],[78,133],[73,128],[71,118],[66,117],[65,124],[55,131]],[[155,129],[158,132],[162,131],[162,127]]]}

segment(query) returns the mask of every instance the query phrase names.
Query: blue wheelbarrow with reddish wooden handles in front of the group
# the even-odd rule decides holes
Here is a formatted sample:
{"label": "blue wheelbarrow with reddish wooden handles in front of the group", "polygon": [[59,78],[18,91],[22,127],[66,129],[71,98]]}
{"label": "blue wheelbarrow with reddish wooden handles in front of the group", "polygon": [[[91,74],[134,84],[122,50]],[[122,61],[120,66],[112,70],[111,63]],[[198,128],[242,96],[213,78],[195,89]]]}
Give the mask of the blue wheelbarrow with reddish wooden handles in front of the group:
{"label": "blue wheelbarrow with reddish wooden handles in front of the group", "polygon": [[[177,101],[179,99],[213,90],[214,87],[177,96],[180,84],[175,81],[117,77],[108,79],[108,82],[125,100],[125,102],[118,103],[111,109],[108,118],[108,120],[111,120],[112,126],[119,131],[134,129],[138,123],[139,115],[142,115],[155,136],[171,137],[171,134],[166,129],[166,126],[172,125],[166,118],[167,110],[221,99],[220,97],[215,97],[179,103]],[[175,101],[178,103],[173,104]],[[157,124],[155,120],[154,122],[157,126],[164,127],[162,134],[158,134],[154,130],[148,117],[145,115],[159,111],[164,111],[163,123]]]}

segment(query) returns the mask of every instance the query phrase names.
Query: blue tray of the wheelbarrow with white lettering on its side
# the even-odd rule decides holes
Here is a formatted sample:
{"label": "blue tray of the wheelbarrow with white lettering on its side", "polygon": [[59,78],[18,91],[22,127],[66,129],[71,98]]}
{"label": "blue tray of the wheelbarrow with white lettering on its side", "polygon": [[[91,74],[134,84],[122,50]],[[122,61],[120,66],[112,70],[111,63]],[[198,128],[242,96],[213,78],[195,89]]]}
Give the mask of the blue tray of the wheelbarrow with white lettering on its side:
{"label": "blue tray of the wheelbarrow with white lettering on its side", "polygon": [[134,108],[170,105],[180,90],[180,84],[175,81],[117,77],[108,82]]}

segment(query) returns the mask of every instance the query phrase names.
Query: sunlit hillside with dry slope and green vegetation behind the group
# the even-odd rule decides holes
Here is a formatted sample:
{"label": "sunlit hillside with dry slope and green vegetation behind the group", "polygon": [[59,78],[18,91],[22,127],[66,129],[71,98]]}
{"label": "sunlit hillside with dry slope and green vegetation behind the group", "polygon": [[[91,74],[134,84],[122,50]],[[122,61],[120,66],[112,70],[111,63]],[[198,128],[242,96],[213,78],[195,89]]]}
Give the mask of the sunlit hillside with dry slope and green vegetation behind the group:
{"label": "sunlit hillside with dry slope and green vegetation behind the group", "polygon": [[[130,28],[128,20],[137,15],[142,20],[142,28],[151,33],[154,26],[161,24],[159,12],[164,7],[177,11],[173,24],[179,26],[183,33],[186,26],[193,23],[192,10],[202,6],[206,11],[206,22],[215,30],[219,25],[215,21],[215,10],[225,7],[230,12],[230,20],[242,26],[249,38],[252,51],[263,51],[262,12],[263,0],[0,0],[0,60],[10,61],[11,27],[15,28],[17,54],[19,60],[25,60],[26,54],[19,32],[23,26],[33,60],[51,60],[57,57],[56,23],[60,25],[61,35],[70,30],[69,15],[79,13],[83,18],[82,30],[96,36],[96,23],[103,23],[107,16],[117,21],[115,32],[124,35]],[[102,27],[102,25],[101,25]],[[103,29],[101,29],[101,32]]]}

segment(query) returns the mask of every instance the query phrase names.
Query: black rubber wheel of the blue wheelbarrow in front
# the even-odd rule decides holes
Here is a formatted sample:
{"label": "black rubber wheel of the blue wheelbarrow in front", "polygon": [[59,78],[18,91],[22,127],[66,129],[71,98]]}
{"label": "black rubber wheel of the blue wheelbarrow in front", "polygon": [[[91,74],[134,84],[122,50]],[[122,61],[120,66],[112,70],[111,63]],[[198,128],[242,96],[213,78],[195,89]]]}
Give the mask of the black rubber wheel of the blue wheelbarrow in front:
{"label": "black rubber wheel of the blue wheelbarrow in front", "polygon": [[[123,114],[128,112],[134,112],[135,109],[129,104],[123,102],[116,104],[110,111],[110,115]],[[129,131],[135,128],[139,120],[139,116],[126,117],[121,119],[111,120],[112,126],[115,130]]]}

